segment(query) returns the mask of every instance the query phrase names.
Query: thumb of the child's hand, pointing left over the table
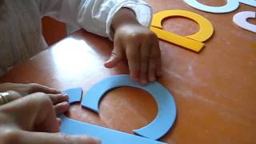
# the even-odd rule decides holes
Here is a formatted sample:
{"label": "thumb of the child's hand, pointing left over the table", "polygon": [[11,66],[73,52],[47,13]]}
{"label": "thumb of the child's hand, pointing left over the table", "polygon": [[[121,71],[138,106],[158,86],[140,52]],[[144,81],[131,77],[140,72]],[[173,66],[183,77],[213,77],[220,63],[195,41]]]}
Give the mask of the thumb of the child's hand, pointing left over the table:
{"label": "thumb of the child's hand, pointing left over the table", "polygon": [[106,68],[113,68],[117,66],[122,60],[122,49],[119,46],[114,46],[114,50],[111,53],[110,58],[104,63]]}

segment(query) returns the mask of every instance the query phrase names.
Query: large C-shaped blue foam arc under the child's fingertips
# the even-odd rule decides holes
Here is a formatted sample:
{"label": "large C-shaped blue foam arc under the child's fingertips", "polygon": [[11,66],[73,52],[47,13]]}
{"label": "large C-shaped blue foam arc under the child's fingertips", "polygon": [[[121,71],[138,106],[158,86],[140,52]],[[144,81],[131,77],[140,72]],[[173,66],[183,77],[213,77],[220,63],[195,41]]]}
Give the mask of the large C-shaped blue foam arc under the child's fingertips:
{"label": "large C-shaped blue foam arc under the child's fingertips", "polygon": [[99,102],[104,94],[109,90],[121,86],[137,87],[146,90],[154,97],[158,106],[158,114],[156,118],[141,129],[134,130],[134,133],[154,140],[162,138],[174,124],[176,118],[176,105],[170,92],[158,82],[142,86],[138,82],[132,82],[130,77],[125,74],[106,78],[92,86],[82,97],[82,106],[98,113]]}

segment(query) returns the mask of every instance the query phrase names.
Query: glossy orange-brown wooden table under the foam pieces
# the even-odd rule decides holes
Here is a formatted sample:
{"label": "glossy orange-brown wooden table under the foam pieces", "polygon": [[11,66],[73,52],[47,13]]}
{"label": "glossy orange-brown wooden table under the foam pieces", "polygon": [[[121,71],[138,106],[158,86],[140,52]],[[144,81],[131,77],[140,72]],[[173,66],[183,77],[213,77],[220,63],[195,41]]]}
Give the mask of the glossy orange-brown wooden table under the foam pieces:
{"label": "glossy orange-brown wooden table under the foam pieces", "polygon": [[[181,0],[149,0],[154,12],[190,10],[208,18],[214,36],[200,54],[168,42],[160,42],[163,77],[159,79],[174,95],[178,118],[161,140],[169,143],[256,143],[256,34],[232,22],[234,14],[254,7],[241,5],[229,14],[209,14],[194,10]],[[202,1],[221,6],[224,1]],[[255,23],[255,20],[251,22]],[[164,22],[166,30],[188,35],[198,26],[184,18]],[[2,82],[38,82],[60,90],[82,86],[84,92],[115,74],[128,74],[125,63],[108,70],[102,63],[112,44],[107,38],[85,30],[71,34],[31,60],[14,66]],[[143,90],[122,87],[102,99],[100,114],[70,109],[70,117],[83,122],[132,133],[154,119],[154,99]]]}

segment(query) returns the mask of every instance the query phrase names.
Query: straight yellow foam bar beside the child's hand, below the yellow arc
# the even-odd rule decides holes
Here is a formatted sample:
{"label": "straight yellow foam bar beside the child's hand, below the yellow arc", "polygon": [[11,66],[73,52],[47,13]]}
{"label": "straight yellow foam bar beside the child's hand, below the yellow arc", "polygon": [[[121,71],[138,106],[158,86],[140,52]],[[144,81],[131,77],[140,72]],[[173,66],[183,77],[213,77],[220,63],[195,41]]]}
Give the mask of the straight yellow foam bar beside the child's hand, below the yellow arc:
{"label": "straight yellow foam bar beside the child's hand, below the yellow arc", "polygon": [[150,30],[157,34],[158,38],[167,42],[172,42],[178,46],[183,46],[189,50],[199,52],[200,50],[202,50],[203,46],[205,46],[205,44],[202,42],[198,42],[193,39],[180,36],[178,34],[170,33],[166,30],[162,30],[154,26],[151,26]]}

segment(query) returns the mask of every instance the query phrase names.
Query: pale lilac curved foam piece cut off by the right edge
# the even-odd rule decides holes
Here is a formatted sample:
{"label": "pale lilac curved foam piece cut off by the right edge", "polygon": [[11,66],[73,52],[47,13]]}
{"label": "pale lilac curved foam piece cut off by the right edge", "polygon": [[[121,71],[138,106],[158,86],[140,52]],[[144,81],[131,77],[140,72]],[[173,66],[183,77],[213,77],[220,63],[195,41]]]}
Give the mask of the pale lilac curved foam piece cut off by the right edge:
{"label": "pale lilac curved foam piece cut off by the right edge", "polygon": [[248,18],[256,18],[256,12],[254,11],[242,11],[234,15],[233,21],[243,29],[256,33],[256,25],[247,22]]}

